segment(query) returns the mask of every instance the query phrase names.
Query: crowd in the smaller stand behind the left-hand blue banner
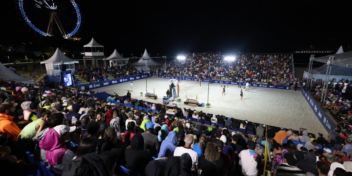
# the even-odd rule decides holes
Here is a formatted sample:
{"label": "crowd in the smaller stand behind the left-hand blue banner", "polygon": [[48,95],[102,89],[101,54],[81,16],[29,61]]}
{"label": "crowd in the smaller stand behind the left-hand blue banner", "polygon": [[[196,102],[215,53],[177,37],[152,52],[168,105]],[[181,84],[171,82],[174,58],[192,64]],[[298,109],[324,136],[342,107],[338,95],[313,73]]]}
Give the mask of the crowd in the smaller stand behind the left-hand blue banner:
{"label": "crowd in the smaller stand behind the left-hand blue banner", "polygon": [[[112,75],[114,78],[121,78],[121,77],[127,77],[131,75],[138,75],[142,74],[140,71],[138,71],[135,67],[133,67],[130,64],[126,65],[116,65],[116,66],[107,66],[104,67],[103,69],[99,68],[89,68],[89,69],[80,69],[77,70],[79,75],[83,76],[86,78],[87,82],[98,82],[98,81],[104,81],[111,79],[108,75]],[[77,82],[77,78],[75,78],[75,83],[80,83],[79,81]]]}

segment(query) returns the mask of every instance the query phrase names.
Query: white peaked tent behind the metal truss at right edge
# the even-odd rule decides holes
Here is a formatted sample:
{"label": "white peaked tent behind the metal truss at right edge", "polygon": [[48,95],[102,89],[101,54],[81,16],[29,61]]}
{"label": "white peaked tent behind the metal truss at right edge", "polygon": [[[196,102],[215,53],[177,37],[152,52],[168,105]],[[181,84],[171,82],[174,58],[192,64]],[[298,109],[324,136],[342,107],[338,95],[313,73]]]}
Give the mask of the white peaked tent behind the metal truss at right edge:
{"label": "white peaked tent behind the metal truss at right edge", "polygon": [[[349,55],[350,52],[346,52],[345,54]],[[333,56],[336,56],[337,60],[339,60],[339,59],[345,60],[346,58],[350,58],[350,56],[342,56],[342,55],[344,55],[343,53],[344,53],[344,50],[342,49],[342,46],[340,46],[339,50],[337,50],[336,54],[334,54]],[[325,57],[325,56],[323,56],[323,57]],[[326,69],[327,69],[326,64],[323,64],[320,67],[312,69],[312,77],[314,77],[315,80],[324,80],[325,76],[326,76]],[[330,78],[336,79],[337,82],[339,80],[341,80],[342,78],[345,80],[346,79],[350,80],[352,78],[351,75],[352,75],[352,68],[342,67],[342,66],[338,66],[338,65],[333,65],[331,67]],[[309,77],[309,73],[307,70],[304,70],[303,77]],[[329,80],[329,81],[331,81],[331,80]]]}

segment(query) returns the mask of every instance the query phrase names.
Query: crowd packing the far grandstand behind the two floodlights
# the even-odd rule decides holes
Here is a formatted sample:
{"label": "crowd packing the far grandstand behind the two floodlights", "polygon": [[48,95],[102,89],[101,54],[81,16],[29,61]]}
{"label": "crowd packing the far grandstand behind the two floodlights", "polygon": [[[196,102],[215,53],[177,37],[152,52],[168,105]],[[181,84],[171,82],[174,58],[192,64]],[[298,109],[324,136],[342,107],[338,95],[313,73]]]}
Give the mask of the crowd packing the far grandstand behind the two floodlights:
{"label": "crowd packing the far grandstand behind the two floodlights", "polygon": [[[190,53],[184,61],[175,59],[165,70],[166,76],[240,81],[271,85],[292,85],[293,68],[290,55],[238,54],[229,62],[225,54]],[[181,64],[182,62],[182,64]],[[210,64],[210,73],[209,73]]]}

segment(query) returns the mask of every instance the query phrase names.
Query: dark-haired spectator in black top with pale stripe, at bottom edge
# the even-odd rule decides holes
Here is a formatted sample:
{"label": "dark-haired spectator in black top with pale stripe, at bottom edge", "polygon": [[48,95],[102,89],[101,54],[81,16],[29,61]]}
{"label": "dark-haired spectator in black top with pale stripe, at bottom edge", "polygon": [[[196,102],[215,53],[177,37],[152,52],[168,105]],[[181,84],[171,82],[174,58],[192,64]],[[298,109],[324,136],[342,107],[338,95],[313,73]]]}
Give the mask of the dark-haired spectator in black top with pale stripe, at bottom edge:
{"label": "dark-haired spectator in black top with pale stripe, at bottom edge", "polygon": [[276,167],[276,175],[305,176],[306,173],[296,167],[295,157],[291,153],[285,153],[284,162]]}

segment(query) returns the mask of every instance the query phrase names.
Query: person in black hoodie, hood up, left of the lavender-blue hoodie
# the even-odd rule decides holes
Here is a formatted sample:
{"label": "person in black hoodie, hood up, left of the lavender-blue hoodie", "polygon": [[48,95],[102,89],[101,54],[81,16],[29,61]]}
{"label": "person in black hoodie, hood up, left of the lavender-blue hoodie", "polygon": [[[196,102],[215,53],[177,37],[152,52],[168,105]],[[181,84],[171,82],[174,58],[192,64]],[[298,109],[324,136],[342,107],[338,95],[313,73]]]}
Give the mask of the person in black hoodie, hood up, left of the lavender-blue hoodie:
{"label": "person in black hoodie, hood up, left of the lavender-blue hoodie", "polygon": [[143,175],[147,164],[152,161],[148,150],[144,150],[144,138],[136,133],[131,139],[131,147],[125,152],[126,168]]}

